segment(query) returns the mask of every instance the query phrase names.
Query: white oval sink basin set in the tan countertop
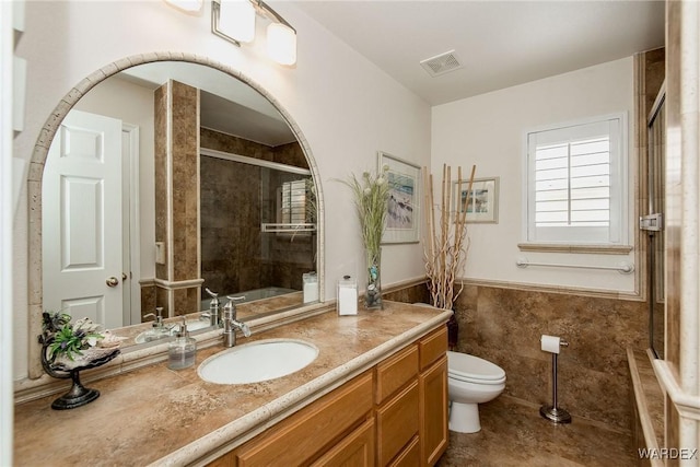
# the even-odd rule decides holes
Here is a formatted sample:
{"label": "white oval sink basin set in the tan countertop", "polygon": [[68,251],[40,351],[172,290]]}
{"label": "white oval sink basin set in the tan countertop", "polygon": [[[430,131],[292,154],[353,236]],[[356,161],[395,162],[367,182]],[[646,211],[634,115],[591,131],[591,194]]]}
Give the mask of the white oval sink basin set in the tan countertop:
{"label": "white oval sink basin set in the tan countertop", "polygon": [[303,340],[266,339],[211,355],[197,373],[209,383],[259,383],[298,372],[316,357],[316,346]]}

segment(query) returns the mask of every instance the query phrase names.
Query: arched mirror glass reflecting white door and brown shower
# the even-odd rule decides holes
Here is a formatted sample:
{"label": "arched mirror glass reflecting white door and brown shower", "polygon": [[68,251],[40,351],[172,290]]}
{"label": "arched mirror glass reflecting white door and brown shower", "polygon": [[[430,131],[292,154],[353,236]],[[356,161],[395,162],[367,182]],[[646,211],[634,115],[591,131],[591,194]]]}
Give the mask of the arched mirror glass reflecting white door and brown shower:
{"label": "arched mirror glass reflecting white door and brown shower", "polygon": [[245,295],[242,318],[318,300],[304,151],[220,70],[158,61],[102,81],[58,129],[42,187],[44,310],[115,329],[162,307],[167,329],[185,314],[194,329],[209,322],[205,288],[221,305]]}

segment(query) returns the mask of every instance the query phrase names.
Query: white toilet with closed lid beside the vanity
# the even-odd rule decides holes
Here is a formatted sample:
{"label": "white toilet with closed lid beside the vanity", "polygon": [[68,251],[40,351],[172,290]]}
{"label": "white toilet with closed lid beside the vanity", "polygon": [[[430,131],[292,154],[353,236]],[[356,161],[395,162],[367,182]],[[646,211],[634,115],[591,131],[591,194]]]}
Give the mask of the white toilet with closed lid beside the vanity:
{"label": "white toilet with closed lid beside the vanity", "polygon": [[479,404],[495,399],[505,388],[505,372],[488,360],[447,351],[450,430],[476,433],[481,430]]}

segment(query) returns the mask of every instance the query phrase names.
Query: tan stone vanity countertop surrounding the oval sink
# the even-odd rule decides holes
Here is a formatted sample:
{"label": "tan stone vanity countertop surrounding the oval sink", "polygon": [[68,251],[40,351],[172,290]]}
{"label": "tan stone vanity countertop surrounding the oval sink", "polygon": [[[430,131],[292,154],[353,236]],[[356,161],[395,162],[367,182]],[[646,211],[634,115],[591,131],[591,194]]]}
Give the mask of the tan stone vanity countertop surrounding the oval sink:
{"label": "tan stone vanity countertop surrounding the oval sink", "polygon": [[288,376],[245,385],[207,383],[197,366],[222,346],[197,352],[194,366],[158,363],[88,384],[98,399],[52,410],[56,395],[15,406],[14,459],[34,465],[187,465],[242,444],[336,386],[416,340],[451,312],[385,302],[383,311],[338,316],[335,310],[240,338],[294,338],[314,343],[318,357]]}

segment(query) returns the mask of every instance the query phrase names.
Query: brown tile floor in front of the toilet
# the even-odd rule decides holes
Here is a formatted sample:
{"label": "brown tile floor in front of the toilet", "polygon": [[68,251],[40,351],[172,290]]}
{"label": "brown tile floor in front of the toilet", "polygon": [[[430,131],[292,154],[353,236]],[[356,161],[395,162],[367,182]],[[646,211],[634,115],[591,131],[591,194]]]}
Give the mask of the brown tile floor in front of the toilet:
{"label": "brown tile floor in front of the toilet", "polygon": [[635,466],[629,433],[573,417],[555,424],[539,415],[539,406],[501,396],[482,404],[481,431],[450,432],[447,452],[438,467],[569,467]]}

